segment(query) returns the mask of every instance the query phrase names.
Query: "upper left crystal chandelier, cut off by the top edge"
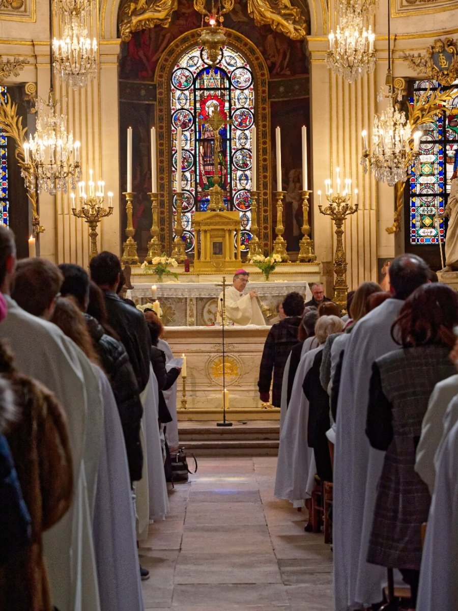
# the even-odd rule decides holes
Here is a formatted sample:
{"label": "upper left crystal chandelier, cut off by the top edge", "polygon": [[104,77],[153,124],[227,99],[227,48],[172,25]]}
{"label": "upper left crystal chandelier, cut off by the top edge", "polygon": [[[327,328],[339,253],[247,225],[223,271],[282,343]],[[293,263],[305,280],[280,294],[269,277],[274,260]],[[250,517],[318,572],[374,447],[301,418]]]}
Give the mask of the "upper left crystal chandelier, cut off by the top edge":
{"label": "upper left crystal chandelier, cut off by the top edge", "polygon": [[85,87],[97,71],[97,41],[87,37],[86,16],[90,4],[59,0],[57,7],[64,16],[64,37],[54,38],[54,70],[70,87]]}

